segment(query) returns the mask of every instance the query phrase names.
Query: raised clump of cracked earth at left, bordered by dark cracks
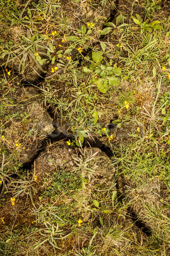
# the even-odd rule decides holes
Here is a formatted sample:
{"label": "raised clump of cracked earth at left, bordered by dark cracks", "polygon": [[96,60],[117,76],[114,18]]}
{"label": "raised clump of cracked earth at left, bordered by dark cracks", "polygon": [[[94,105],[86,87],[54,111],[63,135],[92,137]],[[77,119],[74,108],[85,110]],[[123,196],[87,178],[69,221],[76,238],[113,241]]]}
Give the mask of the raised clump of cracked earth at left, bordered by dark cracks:
{"label": "raised clump of cracked earth at left, bordered by dark cracks", "polygon": [[23,113],[23,120],[12,122],[3,135],[8,150],[15,149],[17,158],[24,164],[36,157],[42,140],[55,128],[52,125],[53,119],[38,102],[24,105],[20,111]]}

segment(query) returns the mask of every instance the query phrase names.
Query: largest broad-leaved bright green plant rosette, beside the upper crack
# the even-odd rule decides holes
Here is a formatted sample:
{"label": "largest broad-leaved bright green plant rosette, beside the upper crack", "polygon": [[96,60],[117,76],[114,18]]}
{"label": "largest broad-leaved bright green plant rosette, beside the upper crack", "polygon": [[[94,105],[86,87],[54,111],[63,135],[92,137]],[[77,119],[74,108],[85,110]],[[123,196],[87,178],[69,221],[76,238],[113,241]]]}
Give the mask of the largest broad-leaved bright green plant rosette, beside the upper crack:
{"label": "largest broad-leaved bright green plant rosette, beside the upper crack", "polygon": [[92,52],[92,59],[96,64],[90,64],[88,67],[84,67],[83,71],[85,73],[92,73],[92,82],[96,84],[100,92],[106,93],[111,86],[119,86],[119,76],[122,73],[122,69],[115,65],[111,67],[112,60],[105,65],[101,64],[102,55],[103,52],[101,51]]}

